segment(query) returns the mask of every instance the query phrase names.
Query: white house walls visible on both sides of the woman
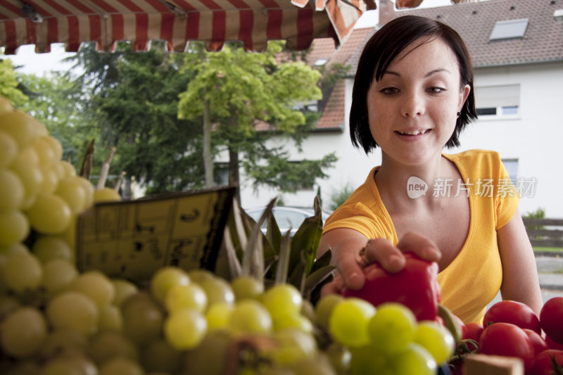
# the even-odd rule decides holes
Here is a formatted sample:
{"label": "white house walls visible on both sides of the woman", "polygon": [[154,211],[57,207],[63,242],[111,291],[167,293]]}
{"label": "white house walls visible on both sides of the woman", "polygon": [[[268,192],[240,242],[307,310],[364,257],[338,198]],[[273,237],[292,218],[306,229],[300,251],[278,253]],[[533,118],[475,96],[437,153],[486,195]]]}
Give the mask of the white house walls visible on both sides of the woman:
{"label": "white house walls visible on both sides of the woman", "polygon": [[[547,217],[563,217],[563,64],[487,68],[475,73],[476,86],[520,84],[519,117],[512,120],[478,120],[461,134],[460,148],[445,152],[484,148],[498,151],[501,158],[518,159],[518,177],[537,179],[533,196],[521,199],[521,213],[541,207]],[[303,143],[303,153],[292,152],[292,160],[320,158],[336,152],[339,160],[333,169],[327,171],[329,177],[317,181],[324,209],[328,209],[331,195],[342,191],[348,184],[353,187],[362,184],[369,170],[381,163],[379,150],[366,156],[350,144],[347,119],[351,91],[352,80],[348,80],[344,131],[311,134]],[[291,144],[288,146],[291,147]],[[315,186],[311,191],[280,195],[286,205],[311,206],[316,193]],[[277,194],[279,192],[275,189],[262,188],[254,193],[251,186],[241,188],[244,208],[265,205]]]}

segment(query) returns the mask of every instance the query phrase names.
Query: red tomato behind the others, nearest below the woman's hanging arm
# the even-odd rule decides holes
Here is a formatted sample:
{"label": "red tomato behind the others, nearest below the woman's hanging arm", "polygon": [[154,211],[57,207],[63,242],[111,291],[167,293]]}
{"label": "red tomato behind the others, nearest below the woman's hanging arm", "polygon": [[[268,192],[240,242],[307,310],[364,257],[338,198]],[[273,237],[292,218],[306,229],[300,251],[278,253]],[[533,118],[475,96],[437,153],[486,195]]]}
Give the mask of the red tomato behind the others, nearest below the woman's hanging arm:
{"label": "red tomato behind the others, nearest below the woman's hanging arm", "polygon": [[502,300],[492,305],[483,317],[483,326],[505,322],[516,324],[520,328],[531,329],[541,334],[540,319],[528,305],[514,301]]}

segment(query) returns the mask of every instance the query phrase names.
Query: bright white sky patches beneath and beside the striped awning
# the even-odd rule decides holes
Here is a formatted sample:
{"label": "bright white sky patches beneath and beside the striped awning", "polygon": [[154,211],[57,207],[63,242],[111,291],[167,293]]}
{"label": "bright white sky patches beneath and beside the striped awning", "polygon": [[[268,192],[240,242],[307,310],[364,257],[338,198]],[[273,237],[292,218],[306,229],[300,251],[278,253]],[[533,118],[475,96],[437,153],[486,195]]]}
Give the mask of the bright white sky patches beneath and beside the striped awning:
{"label": "bright white sky patches beneath and beside the striped awning", "polygon": [[[418,8],[434,8],[436,6],[451,5],[450,0],[424,0]],[[357,21],[356,27],[368,27],[377,23],[378,11],[367,11]],[[374,21],[375,20],[375,21]],[[35,46],[20,46],[15,55],[8,55],[6,58],[12,61],[12,64],[21,65],[18,72],[34,75],[48,75],[52,70],[67,70],[70,65],[62,63],[63,58],[72,55],[65,52],[63,44],[51,44],[50,53],[35,53]]]}

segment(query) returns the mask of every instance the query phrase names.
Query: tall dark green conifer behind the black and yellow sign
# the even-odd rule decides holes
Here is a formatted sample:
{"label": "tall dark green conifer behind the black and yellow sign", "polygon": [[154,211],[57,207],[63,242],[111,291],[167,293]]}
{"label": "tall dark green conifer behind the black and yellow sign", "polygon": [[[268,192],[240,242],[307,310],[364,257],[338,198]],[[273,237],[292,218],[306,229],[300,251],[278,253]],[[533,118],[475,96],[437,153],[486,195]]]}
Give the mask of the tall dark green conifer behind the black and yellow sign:
{"label": "tall dark green conifer behind the black and yellow sign", "polygon": [[115,146],[111,171],[134,178],[147,193],[203,186],[201,131],[177,118],[178,94],[186,87],[176,54],[155,48],[131,51],[119,44],[112,53],[83,46],[77,61],[84,108],[97,117],[101,144]]}

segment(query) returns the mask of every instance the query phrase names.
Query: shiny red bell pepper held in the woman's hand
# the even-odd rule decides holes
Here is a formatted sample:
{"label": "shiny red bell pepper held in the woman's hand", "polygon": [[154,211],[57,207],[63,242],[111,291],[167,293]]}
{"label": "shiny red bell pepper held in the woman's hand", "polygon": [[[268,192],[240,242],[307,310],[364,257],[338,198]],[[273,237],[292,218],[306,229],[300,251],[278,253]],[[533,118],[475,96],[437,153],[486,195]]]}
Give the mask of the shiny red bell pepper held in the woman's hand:
{"label": "shiny red bell pepper held in the woman's hand", "polygon": [[[399,272],[386,272],[380,265],[364,268],[367,276],[359,290],[343,288],[344,297],[358,297],[372,305],[384,302],[402,303],[410,308],[417,320],[435,320],[440,302],[438,264],[405,253],[405,267]],[[369,277],[369,278],[368,278]]]}

